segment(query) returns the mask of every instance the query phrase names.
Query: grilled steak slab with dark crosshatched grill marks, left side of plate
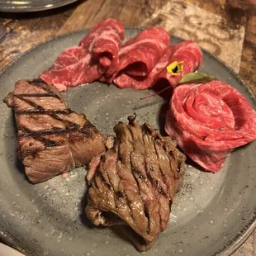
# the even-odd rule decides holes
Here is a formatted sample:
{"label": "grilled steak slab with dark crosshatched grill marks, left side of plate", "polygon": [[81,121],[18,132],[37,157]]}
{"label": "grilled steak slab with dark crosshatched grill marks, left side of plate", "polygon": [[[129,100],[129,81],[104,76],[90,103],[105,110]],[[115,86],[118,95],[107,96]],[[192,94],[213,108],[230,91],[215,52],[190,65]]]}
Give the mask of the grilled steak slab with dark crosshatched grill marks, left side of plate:
{"label": "grilled steak slab with dark crosshatched grill marks, left side of plate", "polygon": [[32,183],[87,164],[104,149],[102,135],[40,79],[20,80],[5,99],[17,121],[17,156]]}

